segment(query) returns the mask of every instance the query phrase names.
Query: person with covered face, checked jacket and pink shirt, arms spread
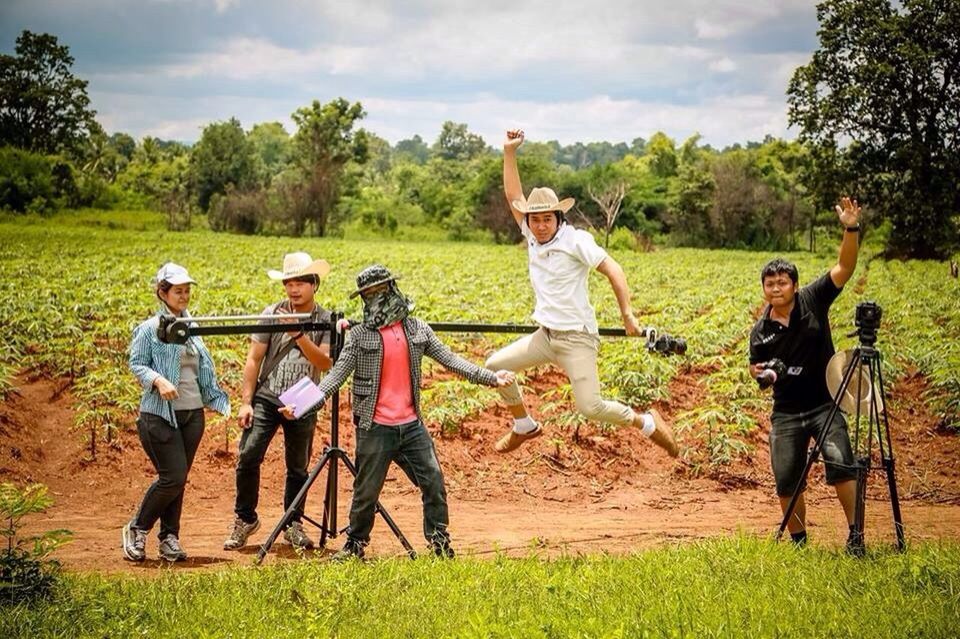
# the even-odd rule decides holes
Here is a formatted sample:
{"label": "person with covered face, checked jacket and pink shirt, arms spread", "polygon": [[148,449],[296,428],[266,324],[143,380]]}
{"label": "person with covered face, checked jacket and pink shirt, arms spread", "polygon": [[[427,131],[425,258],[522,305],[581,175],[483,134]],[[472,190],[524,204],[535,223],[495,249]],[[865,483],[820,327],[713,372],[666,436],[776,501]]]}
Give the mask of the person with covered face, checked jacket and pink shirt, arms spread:
{"label": "person with covered face, checked jacket and pink shirt, arms spread", "polygon": [[[337,560],[363,556],[391,462],[420,489],[423,534],[433,552],[440,557],[454,554],[447,531],[443,473],[420,412],[423,356],[475,384],[506,386],[514,381],[508,371],[494,373],[451,352],[426,322],[410,316],[413,303],[400,292],[396,280],[379,264],[357,276],[357,290],[351,297],[359,295],[363,300],[363,322],[350,330],[343,352],[317,385],[322,403],[353,374],[357,476],[347,541],[334,556]],[[288,405],[281,412],[289,417],[296,408]]]}

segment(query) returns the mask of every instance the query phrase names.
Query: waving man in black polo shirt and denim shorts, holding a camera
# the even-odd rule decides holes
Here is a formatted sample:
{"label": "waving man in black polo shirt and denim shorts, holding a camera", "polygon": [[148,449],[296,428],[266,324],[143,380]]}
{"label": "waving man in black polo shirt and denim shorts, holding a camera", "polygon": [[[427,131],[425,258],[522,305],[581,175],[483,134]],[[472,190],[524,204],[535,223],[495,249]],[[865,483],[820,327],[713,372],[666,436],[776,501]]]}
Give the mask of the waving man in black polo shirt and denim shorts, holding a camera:
{"label": "waving man in black polo shirt and denim shorts, holding a camera", "polygon": [[[850,525],[847,548],[859,552],[863,542],[853,534],[856,472],[847,425],[839,411],[832,423],[824,424],[833,402],[826,380],[827,362],[834,354],[830,305],[853,276],[860,239],[860,207],[856,200],[843,198],[836,208],[845,228],[840,256],[829,272],[797,290],[796,266],[778,258],[763,267],[760,281],[767,306],[750,331],[750,375],[760,375],[764,364],[773,359],[784,364],[782,374],[773,384],[770,416],[770,461],[781,508],[786,512],[800,483],[810,440],[827,428],[821,451],[827,483],[836,489]],[[802,494],[788,529],[795,543],[806,543],[806,503]]]}

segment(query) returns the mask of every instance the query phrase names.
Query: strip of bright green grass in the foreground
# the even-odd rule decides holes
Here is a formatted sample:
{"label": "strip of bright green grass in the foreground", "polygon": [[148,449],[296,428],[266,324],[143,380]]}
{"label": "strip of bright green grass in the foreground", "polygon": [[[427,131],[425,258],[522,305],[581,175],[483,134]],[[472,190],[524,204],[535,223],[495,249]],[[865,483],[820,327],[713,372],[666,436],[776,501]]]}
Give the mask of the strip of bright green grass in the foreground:
{"label": "strip of bright green grass in the foreground", "polygon": [[4,637],[955,637],[960,546],[840,552],[738,536],[627,557],[302,561],[69,575]]}

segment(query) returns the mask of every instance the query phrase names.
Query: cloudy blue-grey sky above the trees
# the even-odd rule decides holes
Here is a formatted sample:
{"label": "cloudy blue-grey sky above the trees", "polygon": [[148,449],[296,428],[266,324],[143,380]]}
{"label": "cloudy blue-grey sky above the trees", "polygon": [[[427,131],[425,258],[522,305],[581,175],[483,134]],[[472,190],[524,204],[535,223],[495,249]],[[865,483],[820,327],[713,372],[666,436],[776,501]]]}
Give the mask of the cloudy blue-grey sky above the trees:
{"label": "cloudy blue-grey sky above the trees", "polygon": [[70,47],[110,131],[196,140],[343,96],[391,142],[445,120],[499,146],[699,132],[793,137],[784,92],[816,48],[814,0],[0,0],[0,52],[24,29]]}

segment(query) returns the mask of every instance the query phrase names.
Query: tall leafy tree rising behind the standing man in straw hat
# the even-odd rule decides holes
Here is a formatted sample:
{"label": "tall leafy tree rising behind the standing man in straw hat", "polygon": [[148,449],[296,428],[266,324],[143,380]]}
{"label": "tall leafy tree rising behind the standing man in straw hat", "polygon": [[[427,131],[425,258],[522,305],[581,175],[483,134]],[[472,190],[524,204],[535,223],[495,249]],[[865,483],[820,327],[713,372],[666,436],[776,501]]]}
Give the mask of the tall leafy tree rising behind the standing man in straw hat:
{"label": "tall leafy tree rising behind the standing man in straw hat", "polygon": [[[359,102],[350,104],[337,98],[327,104],[314,100],[309,107],[297,109],[293,121],[297,124],[294,136],[294,158],[303,172],[303,197],[309,203],[317,235],[327,232],[327,224],[339,195],[339,180],[344,166],[350,160],[367,159],[367,133],[353,130],[354,124],[366,115]],[[297,224],[294,232],[302,233],[307,220]]]}

